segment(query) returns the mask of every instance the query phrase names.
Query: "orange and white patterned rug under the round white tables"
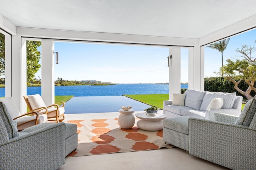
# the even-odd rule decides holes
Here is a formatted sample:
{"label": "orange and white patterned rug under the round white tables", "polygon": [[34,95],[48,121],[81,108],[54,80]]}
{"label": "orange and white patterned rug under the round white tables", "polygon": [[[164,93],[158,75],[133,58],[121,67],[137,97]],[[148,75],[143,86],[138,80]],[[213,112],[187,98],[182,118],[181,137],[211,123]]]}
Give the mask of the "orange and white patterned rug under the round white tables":
{"label": "orange and white patterned rug under the round white tables", "polygon": [[75,123],[78,132],[78,147],[68,156],[174,147],[164,145],[162,131],[141,130],[136,126],[136,122],[132,129],[121,129],[118,125],[118,118],[66,121],[66,123]]}

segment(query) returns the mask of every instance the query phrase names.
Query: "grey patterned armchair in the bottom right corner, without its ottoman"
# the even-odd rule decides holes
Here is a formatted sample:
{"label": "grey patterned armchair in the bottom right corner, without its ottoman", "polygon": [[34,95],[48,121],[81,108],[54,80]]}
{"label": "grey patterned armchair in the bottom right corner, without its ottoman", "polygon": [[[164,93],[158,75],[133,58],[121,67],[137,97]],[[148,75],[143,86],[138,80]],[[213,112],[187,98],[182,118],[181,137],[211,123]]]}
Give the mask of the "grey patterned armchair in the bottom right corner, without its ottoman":
{"label": "grey patterned armchair in the bottom right corner, without its ottoman", "polygon": [[189,154],[237,170],[256,167],[256,99],[239,117],[215,113],[215,121],[189,118]]}

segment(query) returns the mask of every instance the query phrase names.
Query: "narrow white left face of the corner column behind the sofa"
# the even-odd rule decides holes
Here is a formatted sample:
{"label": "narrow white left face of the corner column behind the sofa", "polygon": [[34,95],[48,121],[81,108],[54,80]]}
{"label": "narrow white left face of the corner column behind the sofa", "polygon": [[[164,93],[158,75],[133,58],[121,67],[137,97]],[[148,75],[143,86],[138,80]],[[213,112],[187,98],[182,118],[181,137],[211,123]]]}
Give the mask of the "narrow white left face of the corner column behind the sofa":
{"label": "narrow white left face of the corner column behind the sofa", "polygon": [[188,47],[188,89],[194,90],[194,47]]}

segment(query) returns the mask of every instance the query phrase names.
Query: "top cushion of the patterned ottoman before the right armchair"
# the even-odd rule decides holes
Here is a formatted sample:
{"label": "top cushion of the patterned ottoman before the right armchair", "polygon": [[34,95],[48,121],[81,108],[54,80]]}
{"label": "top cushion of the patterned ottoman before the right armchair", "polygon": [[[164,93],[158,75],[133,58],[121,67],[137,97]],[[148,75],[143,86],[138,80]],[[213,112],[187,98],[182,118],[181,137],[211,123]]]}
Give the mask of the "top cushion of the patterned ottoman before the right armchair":
{"label": "top cushion of the patterned ottoman before the right armchair", "polygon": [[164,127],[180,133],[188,134],[188,119],[188,116],[164,119]]}

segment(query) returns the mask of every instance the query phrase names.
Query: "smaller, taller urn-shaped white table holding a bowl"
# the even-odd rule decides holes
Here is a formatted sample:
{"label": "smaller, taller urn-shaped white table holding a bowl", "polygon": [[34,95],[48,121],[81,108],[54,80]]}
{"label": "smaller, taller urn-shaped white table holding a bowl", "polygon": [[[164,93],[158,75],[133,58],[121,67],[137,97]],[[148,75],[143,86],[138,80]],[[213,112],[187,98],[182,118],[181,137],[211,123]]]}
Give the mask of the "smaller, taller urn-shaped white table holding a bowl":
{"label": "smaller, taller urn-shaped white table holding a bowl", "polygon": [[119,110],[118,124],[122,129],[131,129],[135,123],[135,117],[132,113],[134,113],[133,109],[128,111],[124,111],[123,109]]}

